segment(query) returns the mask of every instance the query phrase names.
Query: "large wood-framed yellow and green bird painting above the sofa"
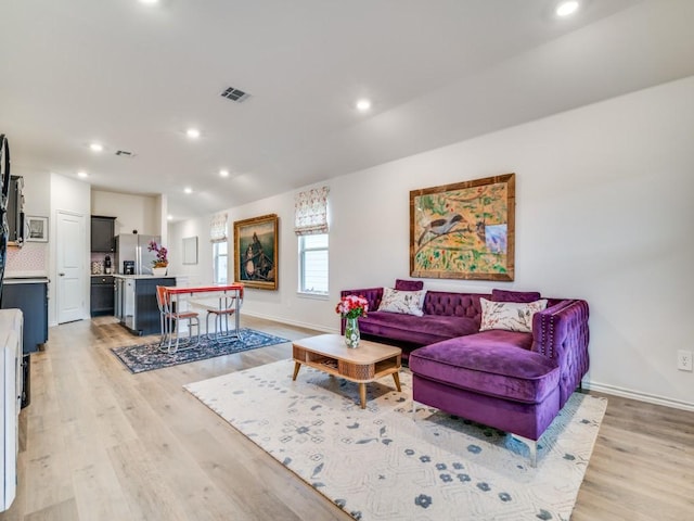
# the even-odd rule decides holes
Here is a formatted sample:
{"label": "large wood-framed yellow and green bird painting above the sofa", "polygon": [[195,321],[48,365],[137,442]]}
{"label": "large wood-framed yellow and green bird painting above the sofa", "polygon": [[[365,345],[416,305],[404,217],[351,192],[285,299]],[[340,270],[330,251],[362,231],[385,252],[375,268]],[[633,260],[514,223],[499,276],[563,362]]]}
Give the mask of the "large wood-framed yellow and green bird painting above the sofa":
{"label": "large wood-framed yellow and green bird painting above the sofa", "polygon": [[410,275],[513,280],[515,174],[410,192]]}

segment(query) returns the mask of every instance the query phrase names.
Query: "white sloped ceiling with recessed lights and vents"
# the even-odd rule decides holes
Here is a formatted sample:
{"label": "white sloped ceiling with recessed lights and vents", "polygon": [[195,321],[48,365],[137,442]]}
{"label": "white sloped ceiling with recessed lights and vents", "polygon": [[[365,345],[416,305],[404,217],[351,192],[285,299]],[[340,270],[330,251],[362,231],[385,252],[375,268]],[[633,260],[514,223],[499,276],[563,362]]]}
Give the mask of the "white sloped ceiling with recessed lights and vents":
{"label": "white sloped ceiling with recessed lights and vents", "polygon": [[3,0],[0,132],[180,219],[694,74],[694,1],[556,3]]}

